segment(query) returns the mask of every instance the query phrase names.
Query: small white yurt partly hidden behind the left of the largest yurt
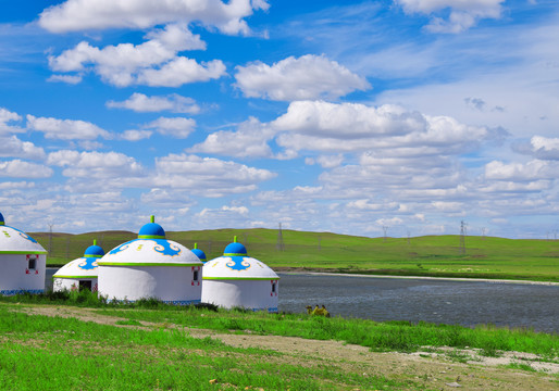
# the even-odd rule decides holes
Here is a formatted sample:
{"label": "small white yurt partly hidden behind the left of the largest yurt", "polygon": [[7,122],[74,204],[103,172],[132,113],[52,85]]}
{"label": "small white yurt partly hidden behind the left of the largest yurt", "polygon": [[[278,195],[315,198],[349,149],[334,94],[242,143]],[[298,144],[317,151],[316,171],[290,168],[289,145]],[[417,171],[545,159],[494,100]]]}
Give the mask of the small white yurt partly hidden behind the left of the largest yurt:
{"label": "small white yurt partly hidden behind the left of the largest yurt", "polygon": [[103,255],[103,249],[97,245],[97,240],[94,240],[94,245],[86,249],[84,256],[69,262],[54,273],[52,290],[58,292],[89,289],[91,292],[97,292],[97,262]]}

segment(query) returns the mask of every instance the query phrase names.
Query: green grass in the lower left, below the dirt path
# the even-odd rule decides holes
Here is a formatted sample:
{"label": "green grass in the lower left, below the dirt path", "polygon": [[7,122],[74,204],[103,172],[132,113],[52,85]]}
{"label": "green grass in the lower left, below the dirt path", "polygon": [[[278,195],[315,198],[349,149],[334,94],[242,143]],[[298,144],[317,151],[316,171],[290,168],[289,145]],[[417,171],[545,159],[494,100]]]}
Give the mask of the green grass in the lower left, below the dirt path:
{"label": "green grass in the lower left, below the dirt path", "polygon": [[[0,304],[2,390],[420,389],[320,358],[231,348],[182,329],[135,329],[27,315]],[[207,310],[204,310],[207,311]]]}

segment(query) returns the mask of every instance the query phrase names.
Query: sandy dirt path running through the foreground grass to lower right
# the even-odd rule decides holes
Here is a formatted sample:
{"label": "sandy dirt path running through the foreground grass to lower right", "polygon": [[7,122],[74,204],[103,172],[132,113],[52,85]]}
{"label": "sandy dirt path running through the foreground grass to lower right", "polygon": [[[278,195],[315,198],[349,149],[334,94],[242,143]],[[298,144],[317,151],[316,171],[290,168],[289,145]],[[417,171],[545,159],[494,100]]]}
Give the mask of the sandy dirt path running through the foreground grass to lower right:
{"label": "sandy dirt path running through the foreground grass to lower right", "polygon": [[[162,325],[141,321],[141,326],[116,325],[123,318],[96,313],[90,308],[25,306],[22,312],[30,315],[74,317],[116,327],[152,329]],[[318,341],[294,337],[235,335],[206,329],[187,329],[196,338],[216,338],[237,348],[261,348],[281,352],[291,364],[308,365],[313,361],[332,364],[363,376],[385,376],[394,380],[413,380],[427,389],[451,390],[559,390],[559,364],[541,363],[532,354],[506,353],[501,357],[480,356],[474,350],[438,350],[403,354],[375,353],[368,348],[344,344],[338,341]],[[511,363],[530,365],[533,369],[521,370],[504,367]]]}

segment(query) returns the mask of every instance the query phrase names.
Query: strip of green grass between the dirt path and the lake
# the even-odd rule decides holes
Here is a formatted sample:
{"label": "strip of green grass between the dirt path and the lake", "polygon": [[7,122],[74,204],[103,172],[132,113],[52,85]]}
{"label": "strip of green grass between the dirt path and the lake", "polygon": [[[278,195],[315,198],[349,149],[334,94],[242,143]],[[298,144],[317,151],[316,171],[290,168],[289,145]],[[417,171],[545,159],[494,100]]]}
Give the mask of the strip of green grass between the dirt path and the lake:
{"label": "strip of green grass between the dirt path and the lake", "polygon": [[[57,297],[57,294],[52,294]],[[79,299],[84,297],[85,299]],[[58,297],[57,297],[58,298]],[[88,299],[89,298],[89,299]],[[52,303],[49,294],[0,298],[4,303]],[[164,323],[181,327],[214,329],[226,332],[300,337],[315,340],[338,340],[371,348],[374,351],[421,351],[424,346],[480,349],[483,355],[498,356],[502,351],[534,353],[548,361],[559,361],[559,336],[529,329],[497,328],[490,325],[468,328],[409,321],[373,321],[369,319],[324,318],[301,314],[268,314],[225,311],[213,306],[173,306],[147,300],[117,305],[104,300],[95,302],[88,291],[71,295],[57,305],[82,304],[98,307],[103,315],[117,316],[137,325],[141,321]],[[157,310],[152,310],[157,308]]]}

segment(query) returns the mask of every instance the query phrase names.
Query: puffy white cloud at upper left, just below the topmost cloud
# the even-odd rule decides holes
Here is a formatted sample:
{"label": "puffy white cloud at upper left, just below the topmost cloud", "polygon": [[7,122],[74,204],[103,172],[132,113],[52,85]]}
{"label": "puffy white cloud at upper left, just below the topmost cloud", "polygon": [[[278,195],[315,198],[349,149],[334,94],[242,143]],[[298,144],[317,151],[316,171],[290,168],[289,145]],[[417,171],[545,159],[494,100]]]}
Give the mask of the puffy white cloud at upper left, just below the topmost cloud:
{"label": "puffy white cloud at upper left, just below the topmost cloud", "polygon": [[117,87],[131,85],[178,87],[186,83],[207,81],[225,74],[219,61],[198,64],[195,60],[177,56],[179,51],[204,49],[198,35],[186,25],[167,25],[146,35],[144,43],[120,43],[102,49],[79,42],[60,55],[49,56],[55,72],[91,71],[108,84]]}

